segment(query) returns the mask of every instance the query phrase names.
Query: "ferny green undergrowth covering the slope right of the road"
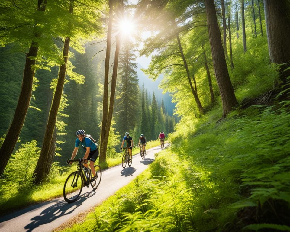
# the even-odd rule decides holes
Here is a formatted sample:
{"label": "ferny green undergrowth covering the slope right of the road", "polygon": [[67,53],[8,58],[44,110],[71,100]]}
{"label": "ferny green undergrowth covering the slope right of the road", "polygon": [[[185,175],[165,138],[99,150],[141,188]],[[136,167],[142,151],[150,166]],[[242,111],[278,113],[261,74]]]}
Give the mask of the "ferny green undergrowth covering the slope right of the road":
{"label": "ferny green undergrowth covering the slope right of the road", "polygon": [[289,104],[188,117],[149,169],[65,231],[290,231]]}

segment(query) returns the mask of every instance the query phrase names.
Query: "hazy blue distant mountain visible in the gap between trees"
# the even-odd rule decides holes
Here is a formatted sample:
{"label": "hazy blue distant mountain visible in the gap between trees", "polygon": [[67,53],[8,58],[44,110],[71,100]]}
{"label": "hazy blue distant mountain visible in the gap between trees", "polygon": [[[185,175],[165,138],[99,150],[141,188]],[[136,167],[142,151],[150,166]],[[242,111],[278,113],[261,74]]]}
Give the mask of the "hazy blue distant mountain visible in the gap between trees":
{"label": "hazy blue distant mountain visible in the gap between trees", "polygon": [[144,74],[144,72],[141,71],[143,67],[140,64],[137,64],[137,74],[139,78],[139,86],[142,89],[142,85],[144,83],[145,89],[147,89],[148,94],[150,93],[151,97],[153,95],[153,92],[155,94],[156,100],[158,101],[158,104],[161,105],[162,98],[164,101],[165,109],[169,115],[173,114],[173,110],[175,109],[175,103],[172,103],[172,98],[169,95],[168,92],[163,94],[163,89],[159,89],[158,85],[160,81],[163,79],[163,75],[160,75],[156,81],[153,81],[152,79],[149,79],[148,76]]}

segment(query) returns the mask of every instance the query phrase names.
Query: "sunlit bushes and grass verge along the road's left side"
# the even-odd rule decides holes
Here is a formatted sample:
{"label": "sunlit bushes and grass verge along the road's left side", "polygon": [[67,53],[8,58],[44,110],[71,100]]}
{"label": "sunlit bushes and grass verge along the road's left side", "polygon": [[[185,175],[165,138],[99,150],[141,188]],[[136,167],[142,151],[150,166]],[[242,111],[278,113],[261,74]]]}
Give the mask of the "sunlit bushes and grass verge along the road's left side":
{"label": "sunlit bushes and grass verge along the road's left side", "polygon": [[[160,145],[159,141],[150,141],[146,148],[149,149],[158,145]],[[139,152],[140,149],[136,146],[133,149],[133,155]],[[32,176],[39,154],[40,148],[37,147],[35,140],[21,145],[12,154],[0,179],[0,215],[63,195],[63,184],[69,173],[76,170],[76,164],[58,166],[57,163],[54,163],[50,171],[49,181],[41,185],[34,185]],[[122,155],[123,153],[120,152],[114,158],[107,158],[107,163],[101,164],[101,168],[106,169],[121,164]],[[81,157],[77,156],[76,158]]]}

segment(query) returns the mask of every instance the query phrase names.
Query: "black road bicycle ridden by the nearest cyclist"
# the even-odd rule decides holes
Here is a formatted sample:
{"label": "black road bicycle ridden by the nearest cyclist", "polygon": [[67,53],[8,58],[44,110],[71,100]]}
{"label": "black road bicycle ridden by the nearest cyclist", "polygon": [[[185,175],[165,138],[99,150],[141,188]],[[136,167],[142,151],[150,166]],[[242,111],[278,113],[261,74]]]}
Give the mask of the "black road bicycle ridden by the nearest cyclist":
{"label": "black road bicycle ridden by the nearest cyclist", "polygon": [[94,165],[96,170],[96,178],[92,179],[92,170],[84,166],[83,159],[67,159],[66,164],[70,162],[79,162],[77,171],[72,172],[64,182],[63,198],[66,202],[71,203],[78,199],[82,192],[82,187],[90,185],[92,188],[97,188],[101,182],[102,169],[99,165]]}

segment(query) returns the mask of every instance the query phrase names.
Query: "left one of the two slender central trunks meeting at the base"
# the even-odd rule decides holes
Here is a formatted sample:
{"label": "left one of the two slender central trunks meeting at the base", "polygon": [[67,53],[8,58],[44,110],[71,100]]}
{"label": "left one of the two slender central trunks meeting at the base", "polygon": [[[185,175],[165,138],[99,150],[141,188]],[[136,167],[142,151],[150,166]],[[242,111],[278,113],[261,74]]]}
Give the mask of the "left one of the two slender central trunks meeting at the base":
{"label": "left one of the two slender central trunks meeting at the base", "polygon": [[100,136],[100,158],[99,163],[106,161],[107,145],[108,142],[105,140],[105,134],[108,133],[106,128],[108,119],[108,89],[109,89],[109,65],[110,65],[110,54],[111,54],[111,40],[112,40],[112,18],[113,18],[113,0],[108,1],[109,4],[109,22],[107,32],[107,50],[105,59],[105,77],[104,77],[104,91],[103,91],[103,114],[102,114],[102,126]]}

